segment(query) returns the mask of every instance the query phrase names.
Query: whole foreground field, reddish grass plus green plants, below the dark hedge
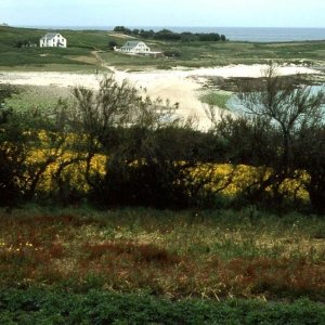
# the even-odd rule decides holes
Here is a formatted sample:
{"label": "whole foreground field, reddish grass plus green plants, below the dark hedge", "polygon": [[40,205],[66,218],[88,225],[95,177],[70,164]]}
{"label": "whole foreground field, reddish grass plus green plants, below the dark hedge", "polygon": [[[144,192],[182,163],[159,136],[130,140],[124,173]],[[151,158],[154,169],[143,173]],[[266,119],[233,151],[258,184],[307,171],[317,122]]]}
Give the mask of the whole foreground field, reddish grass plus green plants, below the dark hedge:
{"label": "whole foreground field, reddish grass plus green plants, below the dark hedge", "polygon": [[[70,322],[64,311],[72,313],[66,302],[72,299],[89,312],[84,318],[94,310],[83,299],[107,301],[103,317],[109,309],[121,316],[120,303],[132,301],[134,320],[145,314],[144,324],[155,320],[154,302],[155,308],[176,309],[169,322],[165,311],[162,324],[180,324],[182,317],[182,324],[222,324],[222,312],[224,322],[234,312],[233,322],[225,324],[251,324],[249,314],[256,322],[270,317],[272,324],[278,316],[278,324],[285,324],[281,317],[297,317],[297,309],[301,318],[291,324],[306,324],[301,313],[310,316],[313,309],[309,324],[321,324],[316,320],[325,312],[325,221],[320,217],[273,216],[253,207],[174,212],[24,206],[10,213],[1,209],[0,225],[2,317],[13,310],[44,317],[55,296],[63,300],[52,312]],[[304,307],[297,308],[302,298]],[[146,300],[151,303],[142,314],[139,308]],[[196,320],[192,315],[198,306],[204,314],[209,311],[207,318],[203,311]],[[257,312],[258,306],[264,313]]]}

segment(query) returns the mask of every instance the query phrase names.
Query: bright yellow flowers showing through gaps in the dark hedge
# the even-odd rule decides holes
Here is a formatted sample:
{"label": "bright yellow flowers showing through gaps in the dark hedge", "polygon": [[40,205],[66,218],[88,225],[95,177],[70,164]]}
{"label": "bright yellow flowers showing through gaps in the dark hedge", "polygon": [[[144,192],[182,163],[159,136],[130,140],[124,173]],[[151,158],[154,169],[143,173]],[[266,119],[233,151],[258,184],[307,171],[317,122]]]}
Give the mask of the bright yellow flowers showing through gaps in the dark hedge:
{"label": "bright yellow flowers showing through gaps in the dark hedge", "polygon": [[[87,162],[86,154],[80,152],[75,153],[69,150],[70,145],[76,141],[84,141],[84,139],[75,134],[66,134],[64,142],[65,145],[55,148],[51,146],[52,134],[46,131],[39,132],[39,140],[41,146],[30,152],[27,158],[27,165],[37,166],[46,162],[49,157],[53,157],[53,162],[50,162],[38,183],[37,190],[40,192],[48,192],[53,186],[55,187],[54,177],[63,164],[72,161],[78,156],[70,165],[67,165],[62,177],[68,180],[69,184],[78,192],[87,193],[90,190],[87,180],[84,179]],[[144,164],[144,161],[142,161]],[[180,161],[179,164],[184,164]],[[105,155],[95,154],[91,158],[90,162],[90,174],[96,174],[104,177],[106,173],[107,157]],[[138,166],[136,161],[131,164]],[[190,169],[191,176],[200,182],[205,182],[204,187],[212,192],[219,192],[226,196],[235,196],[243,188],[246,188],[252,183],[265,180],[272,172],[270,168],[265,167],[252,167],[247,165],[232,165],[232,164],[199,164],[195,168]],[[281,185],[281,192],[287,197],[296,197],[299,199],[307,200],[309,198],[308,192],[302,186],[302,181],[307,182],[309,176],[307,172],[300,172],[299,177],[295,179],[286,179]],[[271,188],[266,188],[271,191]]]}

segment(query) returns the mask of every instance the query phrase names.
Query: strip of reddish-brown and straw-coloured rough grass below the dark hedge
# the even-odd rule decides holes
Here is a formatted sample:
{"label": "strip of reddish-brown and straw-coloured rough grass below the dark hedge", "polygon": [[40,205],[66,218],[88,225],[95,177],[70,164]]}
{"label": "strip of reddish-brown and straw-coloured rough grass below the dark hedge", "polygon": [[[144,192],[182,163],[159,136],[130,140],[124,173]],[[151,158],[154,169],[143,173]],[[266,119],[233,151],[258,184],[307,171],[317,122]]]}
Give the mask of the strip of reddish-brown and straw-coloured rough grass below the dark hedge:
{"label": "strip of reddish-brown and straw-coloured rough grass below the dark hedge", "polygon": [[242,212],[0,213],[0,287],[325,301],[325,220]]}

